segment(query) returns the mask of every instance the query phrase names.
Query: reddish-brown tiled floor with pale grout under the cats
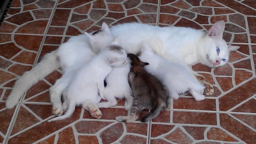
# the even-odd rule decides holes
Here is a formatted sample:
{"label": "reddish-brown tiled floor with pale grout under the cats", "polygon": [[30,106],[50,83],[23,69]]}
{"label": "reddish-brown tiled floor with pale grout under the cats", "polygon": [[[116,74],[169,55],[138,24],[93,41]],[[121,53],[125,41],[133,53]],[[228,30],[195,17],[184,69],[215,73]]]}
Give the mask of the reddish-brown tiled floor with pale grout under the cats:
{"label": "reddish-brown tiled floor with pale grout under the cats", "polygon": [[[241,48],[223,67],[192,66],[214,84],[214,95],[204,101],[181,96],[148,123],[115,121],[127,113],[123,101],[102,109],[99,120],[78,107],[72,118],[47,122],[53,117],[48,89],[61,77],[55,71],[29,89],[17,107],[5,108],[19,75],[73,35],[98,30],[103,21],[208,30],[221,19],[224,39]],[[0,28],[0,143],[255,144],[255,23],[255,0],[14,0]]]}

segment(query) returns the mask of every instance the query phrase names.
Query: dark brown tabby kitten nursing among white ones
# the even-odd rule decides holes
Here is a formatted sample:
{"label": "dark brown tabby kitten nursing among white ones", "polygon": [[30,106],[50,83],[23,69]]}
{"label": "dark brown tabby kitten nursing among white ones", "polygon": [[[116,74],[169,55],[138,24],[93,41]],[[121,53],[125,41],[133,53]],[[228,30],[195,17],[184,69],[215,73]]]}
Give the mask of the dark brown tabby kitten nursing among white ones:
{"label": "dark brown tabby kitten nursing among white ones", "polygon": [[134,54],[127,56],[131,60],[128,81],[133,90],[133,105],[130,115],[119,116],[115,119],[121,122],[133,122],[139,118],[142,110],[148,109],[151,111],[142,118],[142,122],[146,122],[156,118],[160,111],[166,109],[169,102],[168,91],[156,77],[144,69],[144,66],[149,63],[141,62]]}

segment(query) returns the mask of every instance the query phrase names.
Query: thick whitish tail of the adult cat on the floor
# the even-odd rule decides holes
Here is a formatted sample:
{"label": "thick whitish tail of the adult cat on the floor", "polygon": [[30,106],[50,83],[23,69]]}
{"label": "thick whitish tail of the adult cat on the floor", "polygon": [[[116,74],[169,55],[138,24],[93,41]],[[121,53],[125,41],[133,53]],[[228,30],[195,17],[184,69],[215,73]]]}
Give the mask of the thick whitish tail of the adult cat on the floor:
{"label": "thick whitish tail of the adult cat on the floor", "polygon": [[12,109],[22,97],[22,95],[31,86],[42,80],[46,75],[58,69],[60,62],[57,59],[57,50],[46,54],[42,61],[38,63],[32,70],[23,73],[23,75],[16,80],[10,95],[6,100],[6,108]]}

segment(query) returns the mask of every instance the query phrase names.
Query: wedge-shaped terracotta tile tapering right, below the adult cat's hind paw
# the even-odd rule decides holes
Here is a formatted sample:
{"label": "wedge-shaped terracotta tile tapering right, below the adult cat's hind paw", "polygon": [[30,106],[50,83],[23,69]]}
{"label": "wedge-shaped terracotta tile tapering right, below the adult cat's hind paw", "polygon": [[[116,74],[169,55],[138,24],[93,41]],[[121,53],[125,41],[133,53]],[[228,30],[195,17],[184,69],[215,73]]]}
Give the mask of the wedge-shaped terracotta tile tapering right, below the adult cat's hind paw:
{"label": "wedge-shaped terracotta tile tapering right, below the adult cat's hind paw", "polygon": [[95,134],[102,128],[110,125],[113,122],[105,121],[80,121],[75,124],[78,133],[81,134]]}

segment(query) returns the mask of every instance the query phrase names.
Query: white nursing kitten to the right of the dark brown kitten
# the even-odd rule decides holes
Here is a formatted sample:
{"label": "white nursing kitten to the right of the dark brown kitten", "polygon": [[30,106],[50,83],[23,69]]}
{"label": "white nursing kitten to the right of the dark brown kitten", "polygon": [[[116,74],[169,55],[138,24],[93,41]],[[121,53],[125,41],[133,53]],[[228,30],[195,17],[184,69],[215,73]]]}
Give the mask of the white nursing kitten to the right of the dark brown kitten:
{"label": "white nursing kitten to the right of the dark brown kitten", "polygon": [[189,91],[196,101],[205,99],[205,96],[200,94],[205,87],[198,82],[186,65],[161,58],[144,41],[139,59],[150,63],[145,69],[163,82],[169,90],[170,97],[178,99],[179,94]]}

